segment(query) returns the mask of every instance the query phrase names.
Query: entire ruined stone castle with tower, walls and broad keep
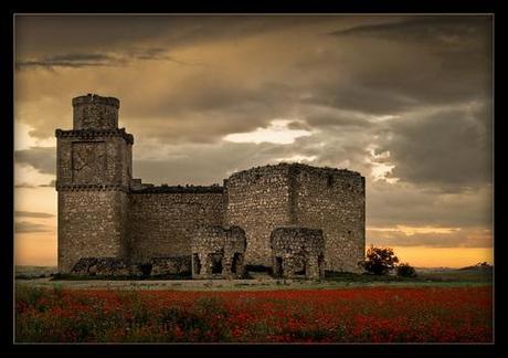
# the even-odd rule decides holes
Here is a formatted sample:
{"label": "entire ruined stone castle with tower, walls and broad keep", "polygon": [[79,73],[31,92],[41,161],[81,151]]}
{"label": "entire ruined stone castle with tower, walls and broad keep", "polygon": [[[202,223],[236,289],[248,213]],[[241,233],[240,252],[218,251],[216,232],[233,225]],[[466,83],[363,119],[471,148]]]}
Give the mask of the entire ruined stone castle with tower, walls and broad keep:
{"label": "entire ruined stone castle with tower, walls and broad keep", "polygon": [[[360,173],[279,164],[223,186],[148,185],[133,178],[134,137],[118,128],[119,101],[88,94],[72,104],[73,129],[55,133],[61,273],[234,278],[252,266],[313,278],[360,270]],[[283,256],[299,264],[281,272]]]}

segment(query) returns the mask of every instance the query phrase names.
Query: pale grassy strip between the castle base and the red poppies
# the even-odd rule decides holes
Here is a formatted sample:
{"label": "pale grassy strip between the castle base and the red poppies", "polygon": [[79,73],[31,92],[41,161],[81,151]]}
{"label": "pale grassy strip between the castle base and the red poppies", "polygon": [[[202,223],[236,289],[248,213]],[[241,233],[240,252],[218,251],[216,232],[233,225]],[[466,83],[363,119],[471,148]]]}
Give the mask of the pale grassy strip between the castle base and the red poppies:
{"label": "pale grassy strip between the castle base and the red poppies", "polygon": [[106,280],[51,276],[56,267],[17,267],[17,283],[52,288],[55,285],[72,289],[180,289],[180,291],[258,291],[258,289],[327,289],[345,287],[428,287],[491,285],[491,267],[423,271],[416,277],[373,276],[329,273],[322,281],[275,280],[265,273],[253,273],[250,280]]}

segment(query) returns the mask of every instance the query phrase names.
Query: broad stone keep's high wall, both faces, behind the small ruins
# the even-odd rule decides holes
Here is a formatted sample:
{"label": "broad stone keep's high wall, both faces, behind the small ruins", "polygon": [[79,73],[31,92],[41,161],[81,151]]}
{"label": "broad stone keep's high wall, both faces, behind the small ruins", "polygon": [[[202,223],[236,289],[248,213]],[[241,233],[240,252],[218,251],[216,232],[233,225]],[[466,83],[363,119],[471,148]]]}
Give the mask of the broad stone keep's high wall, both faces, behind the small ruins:
{"label": "broad stone keep's high wall, both faces, behind the small ruins", "polygon": [[358,172],[279,164],[225,180],[226,221],[245,230],[246,263],[272,265],[269,234],[277,227],[322,229],[326,267],[359,272],[364,255],[364,178]]}

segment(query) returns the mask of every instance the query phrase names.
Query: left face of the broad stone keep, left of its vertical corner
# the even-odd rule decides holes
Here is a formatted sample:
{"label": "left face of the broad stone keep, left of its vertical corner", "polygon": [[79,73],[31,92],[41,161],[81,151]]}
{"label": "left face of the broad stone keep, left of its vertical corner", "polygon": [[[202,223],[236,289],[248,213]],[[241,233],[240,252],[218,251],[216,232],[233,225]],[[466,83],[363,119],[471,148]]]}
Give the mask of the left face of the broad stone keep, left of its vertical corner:
{"label": "left face of the broad stone keep, left of its vertical corner", "polygon": [[289,223],[289,166],[244,170],[225,180],[227,224],[245,230],[246,265],[271,266],[269,234]]}

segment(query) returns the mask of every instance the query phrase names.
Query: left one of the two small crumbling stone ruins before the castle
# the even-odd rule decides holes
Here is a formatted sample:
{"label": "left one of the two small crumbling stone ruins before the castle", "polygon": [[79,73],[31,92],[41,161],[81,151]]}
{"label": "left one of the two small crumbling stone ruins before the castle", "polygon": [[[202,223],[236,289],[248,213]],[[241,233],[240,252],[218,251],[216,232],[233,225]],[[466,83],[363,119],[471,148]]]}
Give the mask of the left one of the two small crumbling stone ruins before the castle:
{"label": "left one of the two small crumbling stone ruins before the castle", "polygon": [[192,277],[243,277],[245,249],[245,231],[239,227],[198,225],[192,238]]}

